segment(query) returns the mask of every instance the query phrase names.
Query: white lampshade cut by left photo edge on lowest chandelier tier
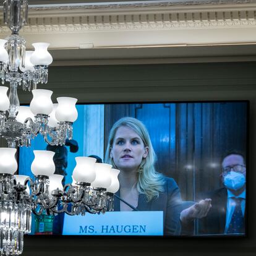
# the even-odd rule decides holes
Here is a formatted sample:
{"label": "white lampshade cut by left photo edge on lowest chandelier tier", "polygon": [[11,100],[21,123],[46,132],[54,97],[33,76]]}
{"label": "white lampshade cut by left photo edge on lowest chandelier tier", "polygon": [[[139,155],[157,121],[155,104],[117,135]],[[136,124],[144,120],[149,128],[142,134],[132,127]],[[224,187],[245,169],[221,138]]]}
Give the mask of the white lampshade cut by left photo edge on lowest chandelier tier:
{"label": "white lampshade cut by left photo edge on lowest chandelier tier", "polygon": [[0,148],[0,173],[14,174],[17,171],[16,151],[16,148]]}

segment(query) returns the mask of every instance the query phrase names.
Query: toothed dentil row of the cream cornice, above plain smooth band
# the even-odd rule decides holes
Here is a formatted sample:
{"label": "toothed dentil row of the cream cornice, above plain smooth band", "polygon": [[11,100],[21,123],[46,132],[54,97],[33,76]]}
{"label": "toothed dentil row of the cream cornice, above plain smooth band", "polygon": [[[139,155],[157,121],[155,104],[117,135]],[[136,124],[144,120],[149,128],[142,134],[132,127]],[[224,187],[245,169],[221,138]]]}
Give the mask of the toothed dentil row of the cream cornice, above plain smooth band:
{"label": "toothed dentil row of the cream cornice, above plain smooth band", "polygon": [[[30,18],[28,23],[22,33],[241,27],[256,25],[256,11],[38,17]],[[9,33],[9,28],[1,26],[0,33]]]}

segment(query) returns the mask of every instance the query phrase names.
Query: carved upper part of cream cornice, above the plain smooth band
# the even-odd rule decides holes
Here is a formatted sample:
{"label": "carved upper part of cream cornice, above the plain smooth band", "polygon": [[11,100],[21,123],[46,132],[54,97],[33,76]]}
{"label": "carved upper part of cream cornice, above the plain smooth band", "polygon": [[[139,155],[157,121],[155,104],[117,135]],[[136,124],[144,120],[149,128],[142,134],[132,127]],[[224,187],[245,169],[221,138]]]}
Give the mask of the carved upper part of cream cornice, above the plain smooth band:
{"label": "carved upper part of cream cornice, above the plain smooth band", "polygon": [[[199,2],[199,1],[197,1]],[[227,1],[207,1],[226,2]],[[231,1],[228,1],[231,2]],[[234,2],[234,1],[232,1]],[[244,2],[244,1],[236,1]],[[148,6],[138,7],[134,4],[108,5],[95,13],[95,8],[88,6],[46,6],[32,7],[29,24],[23,27],[23,33],[67,33],[111,30],[169,30],[196,28],[251,27],[256,25],[256,1],[247,0],[249,4],[233,6],[187,6],[173,8],[161,6],[151,9]],[[252,4],[255,2],[255,4]],[[191,4],[191,2],[189,2]],[[194,2],[195,3],[195,2]],[[187,4],[184,2],[183,4]],[[148,4],[150,6],[150,4]],[[105,6],[105,5],[104,5]],[[122,9],[119,9],[122,6]],[[129,6],[129,8],[127,8]],[[130,7],[134,9],[130,9]],[[157,5],[159,7],[159,5]],[[60,12],[61,10],[61,12]],[[2,25],[2,20],[1,20]],[[0,27],[1,34],[9,33],[5,26]]]}

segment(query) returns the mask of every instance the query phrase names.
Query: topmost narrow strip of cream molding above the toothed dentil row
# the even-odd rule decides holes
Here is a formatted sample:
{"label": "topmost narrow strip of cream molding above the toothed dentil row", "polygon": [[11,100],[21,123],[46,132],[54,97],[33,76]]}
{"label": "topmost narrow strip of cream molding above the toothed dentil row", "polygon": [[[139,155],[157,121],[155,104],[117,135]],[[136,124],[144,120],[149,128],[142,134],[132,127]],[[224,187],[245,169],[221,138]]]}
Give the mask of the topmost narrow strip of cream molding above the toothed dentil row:
{"label": "topmost narrow strip of cream molding above the toothed dentil row", "polygon": [[[221,2],[221,4],[220,4]],[[133,15],[133,14],[161,14],[161,13],[185,13],[185,12],[221,12],[221,11],[252,11],[255,10],[256,0],[242,1],[205,1],[197,2],[158,2],[152,1],[147,4],[66,4],[30,6],[30,17],[53,17],[63,15]],[[196,4],[197,3],[197,4]],[[202,2],[201,2],[202,3]]]}

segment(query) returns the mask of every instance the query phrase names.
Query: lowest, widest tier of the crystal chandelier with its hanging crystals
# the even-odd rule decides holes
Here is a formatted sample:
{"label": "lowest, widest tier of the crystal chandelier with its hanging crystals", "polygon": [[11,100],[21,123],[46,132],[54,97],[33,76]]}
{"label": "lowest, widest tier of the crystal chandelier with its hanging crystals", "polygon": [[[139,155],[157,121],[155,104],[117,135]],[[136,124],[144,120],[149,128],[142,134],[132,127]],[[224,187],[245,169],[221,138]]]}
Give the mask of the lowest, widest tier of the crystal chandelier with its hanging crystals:
{"label": "lowest, widest tier of the crystal chandelier with its hanging crystals", "polygon": [[35,215],[85,215],[114,210],[114,193],[119,189],[119,170],[95,158],[78,156],[72,184],[62,186],[64,176],[54,174],[54,152],[34,150],[34,179],[14,175],[15,148],[0,148],[0,252],[19,255],[23,235],[31,232]]}

